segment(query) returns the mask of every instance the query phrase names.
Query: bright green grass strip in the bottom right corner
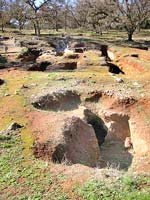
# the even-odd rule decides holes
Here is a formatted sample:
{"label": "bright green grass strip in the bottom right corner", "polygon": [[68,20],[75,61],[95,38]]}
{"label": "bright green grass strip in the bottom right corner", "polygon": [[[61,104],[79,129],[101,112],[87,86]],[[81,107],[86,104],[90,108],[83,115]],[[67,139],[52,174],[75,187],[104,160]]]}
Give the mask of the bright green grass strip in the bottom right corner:
{"label": "bright green grass strip in the bottom right corner", "polygon": [[[84,200],[149,200],[149,184],[147,177],[140,176],[134,178],[125,175],[109,184],[106,181],[92,179],[78,189],[78,193]],[[140,188],[141,185],[143,188]]]}

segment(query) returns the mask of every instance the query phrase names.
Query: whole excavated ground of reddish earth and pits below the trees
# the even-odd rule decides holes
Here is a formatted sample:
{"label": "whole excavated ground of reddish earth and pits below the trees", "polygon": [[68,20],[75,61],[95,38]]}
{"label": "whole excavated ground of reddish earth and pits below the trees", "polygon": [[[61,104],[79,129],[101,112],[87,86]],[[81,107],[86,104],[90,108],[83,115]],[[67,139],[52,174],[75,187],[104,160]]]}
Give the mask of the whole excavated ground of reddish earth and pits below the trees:
{"label": "whole excavated ground of reddish earth and pits below the trees", "polygon": [[105,199],[78,192],[91,179],[119,184],[117,194],[130,176],[142,177],[138,192],[149,188],[148,44],[12,34],[0,36],[0,45],[3,200]]}

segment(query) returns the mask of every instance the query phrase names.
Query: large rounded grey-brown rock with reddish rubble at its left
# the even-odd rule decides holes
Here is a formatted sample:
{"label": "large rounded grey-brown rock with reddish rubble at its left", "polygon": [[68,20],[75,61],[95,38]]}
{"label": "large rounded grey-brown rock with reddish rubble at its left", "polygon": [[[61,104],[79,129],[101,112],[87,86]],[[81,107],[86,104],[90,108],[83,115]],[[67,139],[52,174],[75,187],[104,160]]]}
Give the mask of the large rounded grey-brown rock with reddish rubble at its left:
{"label": "large rounded grey-brown rock with reddish rubble at its left", "polygon": [[96,166],[100,157],[94,129],[78,117],[65,120],[57,141],[49,136],[43,144],[36,142],[34,154],[53,162],[81,163],[91,167]]}

